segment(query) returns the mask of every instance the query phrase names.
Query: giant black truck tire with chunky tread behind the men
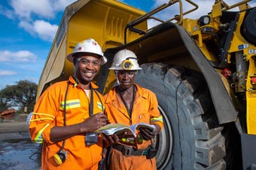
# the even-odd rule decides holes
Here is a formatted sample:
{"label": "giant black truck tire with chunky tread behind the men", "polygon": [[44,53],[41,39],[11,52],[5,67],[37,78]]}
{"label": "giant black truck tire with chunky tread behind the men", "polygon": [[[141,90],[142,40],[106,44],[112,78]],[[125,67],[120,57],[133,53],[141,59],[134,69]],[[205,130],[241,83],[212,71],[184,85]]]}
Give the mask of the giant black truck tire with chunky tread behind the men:
{"label": "giant black truck tire with chunky tread behind the men", "polygon": [[135,82],[157,95],[163,115],[157,169],[226,169],[224,127],[202,74],[166,64],[141,67]]}

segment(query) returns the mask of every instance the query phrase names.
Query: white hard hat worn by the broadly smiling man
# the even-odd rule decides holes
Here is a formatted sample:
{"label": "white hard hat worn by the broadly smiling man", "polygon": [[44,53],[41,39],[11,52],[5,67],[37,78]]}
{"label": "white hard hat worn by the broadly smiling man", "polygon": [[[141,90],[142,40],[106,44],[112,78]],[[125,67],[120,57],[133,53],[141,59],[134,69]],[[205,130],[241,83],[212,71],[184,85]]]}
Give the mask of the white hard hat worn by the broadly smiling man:
{"label": "white hard hat worn by the broadly smiling man", "polygon": [[105,58],[105,56],[103,55],[102,48],[99,46],[99,43],[97,43],[96,40],[93,40],[92,38],[79,42],[75,46],[74,51],[67,56],[67,59],[70,62],[73,62],[75,54],[80,52],[89,52],[99,55],[101,65],[105,64],[108,61],[107,58]]}

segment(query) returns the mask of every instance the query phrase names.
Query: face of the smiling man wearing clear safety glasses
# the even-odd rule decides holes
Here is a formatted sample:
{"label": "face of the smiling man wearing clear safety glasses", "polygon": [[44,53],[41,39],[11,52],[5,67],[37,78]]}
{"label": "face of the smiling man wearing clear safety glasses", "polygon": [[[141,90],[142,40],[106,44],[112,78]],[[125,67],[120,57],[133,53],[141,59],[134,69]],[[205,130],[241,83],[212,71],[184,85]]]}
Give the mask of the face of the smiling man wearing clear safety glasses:
{"label": "face of the smiling man wearing clear safety glasses", "polygon": [[75,60],[75,76],[81,84],[87,85],[93,81],[99,72],[100,61],[98,55],[81,55]]}

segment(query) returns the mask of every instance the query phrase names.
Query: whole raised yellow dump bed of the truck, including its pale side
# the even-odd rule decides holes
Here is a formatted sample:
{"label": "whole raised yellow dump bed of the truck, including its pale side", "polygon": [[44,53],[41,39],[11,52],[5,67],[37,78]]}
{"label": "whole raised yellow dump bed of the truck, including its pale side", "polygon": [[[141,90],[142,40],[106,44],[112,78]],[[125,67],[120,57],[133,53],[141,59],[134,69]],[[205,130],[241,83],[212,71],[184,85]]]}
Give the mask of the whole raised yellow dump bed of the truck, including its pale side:
{"label": "whole raised yellow dump bed of the truck, including its pale side", "polygon": [[[73,65],[66,55],[73,51],[76,43],[89,37],[94,38],[103,51],[120,46],[124,42],[124,28],[145,11],[115,0],[79,0],[66,7],[61,25],[53,41],[41,79],[37,99],[42,91],[54,82],[73,75]],[[138,26],[145,30],[147,23]],[[127,34],[127,42],[142,35]]]}

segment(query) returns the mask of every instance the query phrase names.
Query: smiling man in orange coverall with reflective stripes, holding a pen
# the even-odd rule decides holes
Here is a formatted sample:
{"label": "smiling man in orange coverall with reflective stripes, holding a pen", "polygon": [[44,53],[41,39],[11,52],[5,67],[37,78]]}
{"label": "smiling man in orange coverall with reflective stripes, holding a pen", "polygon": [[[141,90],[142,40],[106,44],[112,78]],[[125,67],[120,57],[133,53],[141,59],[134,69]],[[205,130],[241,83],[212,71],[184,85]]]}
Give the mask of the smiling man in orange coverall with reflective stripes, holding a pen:
{"label": "smiling man in orange coverall with reflective stripes, holding a pen", "polygon": [[107,120],[103,97],[91,81],[107,59],[93,39],[78,43],[67,59],[75,66],[75,76],[44,91],[35,104],[29,133],[33,142],[43,144],[43,170],[96,170],[102,160],[102,137],[93,132]]}

